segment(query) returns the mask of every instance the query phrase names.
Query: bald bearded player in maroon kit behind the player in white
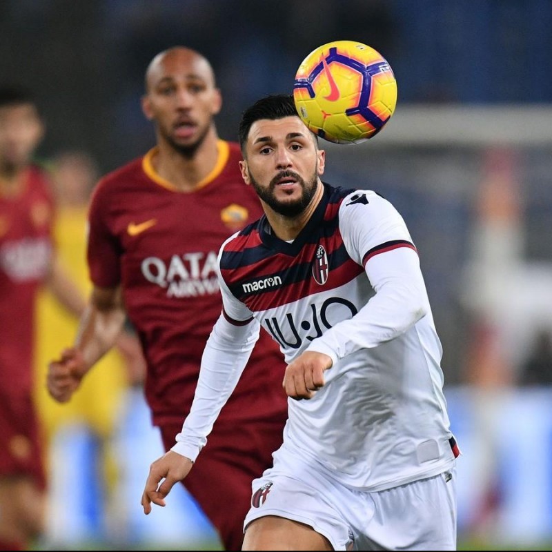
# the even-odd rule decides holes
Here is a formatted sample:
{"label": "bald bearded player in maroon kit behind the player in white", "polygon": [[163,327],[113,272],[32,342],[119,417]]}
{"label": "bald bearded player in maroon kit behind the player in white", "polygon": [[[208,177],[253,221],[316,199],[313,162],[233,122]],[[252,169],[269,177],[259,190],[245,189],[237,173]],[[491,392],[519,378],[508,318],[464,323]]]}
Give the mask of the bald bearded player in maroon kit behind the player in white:
{"label": "bald bearded player in maroon kit behind the player in white", "polygon": [[[239,171],[239,145],[217,135],[220,108],[213,70],[197,52],[171,48],[151,61],[143,109],[157,146],[95,188],[88,312],[75,346],[48,375],[52,396],[69,400],[112,345],[126,310],[144,347],[146,399],[167,451],[190,410],[201,353],[220,314],[219,247],[262,215]],[[186,479],[228,550],[241,549],[251,482],[282,442],[284,369],[275,343],[262,335]]]}

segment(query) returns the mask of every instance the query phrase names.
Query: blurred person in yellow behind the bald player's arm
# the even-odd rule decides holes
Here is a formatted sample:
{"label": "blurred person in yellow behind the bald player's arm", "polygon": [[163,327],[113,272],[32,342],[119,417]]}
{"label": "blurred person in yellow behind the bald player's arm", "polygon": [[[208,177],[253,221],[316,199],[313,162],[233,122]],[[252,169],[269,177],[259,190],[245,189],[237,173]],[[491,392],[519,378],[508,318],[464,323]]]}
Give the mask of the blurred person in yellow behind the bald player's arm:
{"label": "blurred person in yellow behind the bald player's arm", "polygon": [[[61,152],[51,161],[57,253],[73,282],[87,296],[91,285],[86,266],[86,215],[99,177],[97,166],[84,151]],[[112,512],[103,504],[112,504],[112,487],[121,469],[114,451],[117,421],[124,410],[128,384],[142,382],[146,369],[138,339],[123,332],[117,350],[98,362],[70,403],[59,404],[44,385],[47,365],[75,338],[77,326],[78,319],[59,305],[50,290],[39,293],[35,393],[48,442],[46,533],[48,542],[59,546],[82,535],[99,539],[108,531]]]}

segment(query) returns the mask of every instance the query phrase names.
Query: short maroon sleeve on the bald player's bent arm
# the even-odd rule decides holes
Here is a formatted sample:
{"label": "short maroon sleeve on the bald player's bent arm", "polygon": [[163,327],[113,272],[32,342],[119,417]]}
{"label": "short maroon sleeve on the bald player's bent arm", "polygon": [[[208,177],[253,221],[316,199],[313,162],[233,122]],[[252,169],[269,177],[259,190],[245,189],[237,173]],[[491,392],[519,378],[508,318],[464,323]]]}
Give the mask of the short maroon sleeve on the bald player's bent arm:
{"label": "short maroon sleeve on the bald player's bent arm", "polygon": [[107,190],[100,182],[92,194],[88,210],[86,257],[88,272],[95,286],[112,288],[121,281],[120,247],[110,232]]}

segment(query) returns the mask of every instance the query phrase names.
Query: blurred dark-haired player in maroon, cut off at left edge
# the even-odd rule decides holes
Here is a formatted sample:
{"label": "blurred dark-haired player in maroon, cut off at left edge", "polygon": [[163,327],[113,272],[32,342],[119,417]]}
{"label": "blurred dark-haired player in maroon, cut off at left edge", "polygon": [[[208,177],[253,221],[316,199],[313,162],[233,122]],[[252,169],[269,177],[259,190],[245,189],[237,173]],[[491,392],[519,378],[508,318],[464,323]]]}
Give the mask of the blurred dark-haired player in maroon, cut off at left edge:
{"label": "blurred dark-haired player in maroon, cut off at left edge", "polygon": [[26,90],[0,89],[0,550],[26,549],[43,531],[46,478],[32,395],[39,286],[75,315],[84,308],[55,259],[50,185],[30,161],[43,130]]}

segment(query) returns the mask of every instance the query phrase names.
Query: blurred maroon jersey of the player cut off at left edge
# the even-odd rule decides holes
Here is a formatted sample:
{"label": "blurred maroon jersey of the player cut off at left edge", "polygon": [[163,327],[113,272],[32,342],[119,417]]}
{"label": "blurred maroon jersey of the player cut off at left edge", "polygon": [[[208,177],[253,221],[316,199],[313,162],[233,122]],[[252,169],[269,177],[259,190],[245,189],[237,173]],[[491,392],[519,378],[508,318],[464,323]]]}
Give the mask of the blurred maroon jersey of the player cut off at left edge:
{"label": "blurred maroon jersey of the player cut off at left edge", "polygon": [[37,167],[19,193],[0,194],[0,397],[32,391],[34,301],[50,270],[52,217],[50,184]]}

